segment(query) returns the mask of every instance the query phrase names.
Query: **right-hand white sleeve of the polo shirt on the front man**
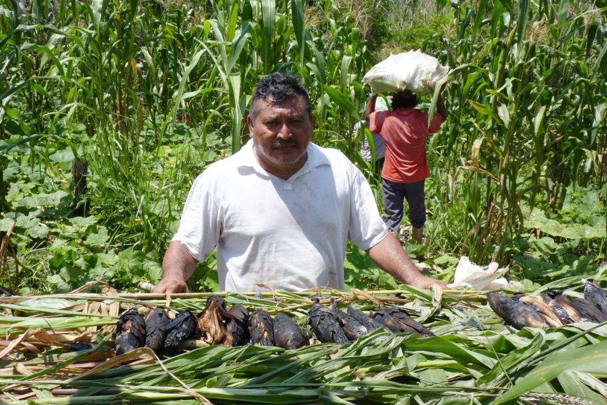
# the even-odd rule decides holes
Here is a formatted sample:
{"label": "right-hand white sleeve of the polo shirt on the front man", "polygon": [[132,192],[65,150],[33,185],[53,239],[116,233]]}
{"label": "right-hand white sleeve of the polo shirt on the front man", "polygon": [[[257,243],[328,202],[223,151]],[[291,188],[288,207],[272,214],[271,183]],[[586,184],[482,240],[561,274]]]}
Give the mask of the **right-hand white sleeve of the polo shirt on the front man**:
{"label": "right-hand white sleeve of the polo shirt on the front man", "polygon": [[361,171],[351,165],[350,228],[348,237],[354,245],[368,250],[387,236],[387,227],[379,216],[371,186]]}

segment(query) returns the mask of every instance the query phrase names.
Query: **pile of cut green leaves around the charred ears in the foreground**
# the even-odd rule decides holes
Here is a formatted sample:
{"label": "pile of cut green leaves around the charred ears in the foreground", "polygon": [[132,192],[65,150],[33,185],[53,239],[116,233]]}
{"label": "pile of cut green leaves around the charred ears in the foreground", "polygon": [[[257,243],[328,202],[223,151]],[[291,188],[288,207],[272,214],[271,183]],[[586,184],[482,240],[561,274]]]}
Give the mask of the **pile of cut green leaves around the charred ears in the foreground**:
{"label": "pile of cut green leaves around the charred ears in the foreground", "polygon": [[[604,279],[604,276],[599,276]],[[375,310],[369,301],[334,291],[341,305],[351,302],[362,310]],[[27,400],[8,397],[5,403],[38,404],[223,404],[328,403],[328,404],[502,404],[543,403],[602,404],[607,396],[607,325],[575,324],[546,332],[536,328],[517,331],[504,327],[501,319],[477,293],[450,293],[443,298],[429,291],[400,286],[376,293],[379,299],[398,294],[412,300],[408,310],[436,336],[419,338],[376,330],[351,345],[313,344],[294,351],[276,347],[209,346],[152,364],[118,367],[121,362],[146,358],[149,349],[125,353],[100,363],[85,374],[73,374],[70,366],[93,353],[107,350],[109,336],[99,333],[95,349],[66,353],[47,347],[41,355],[17,353],[21,366],[46,367],[29,376],[0,377],[0,392],[10,393],[12,384],[32,387]],[[226,294],[226,302],[244,304],[270,313],[287,312],[306,327],[308,294],[268,293],[264,299]],[[104,299],[104,296],[56,296],[63,305]],[[321,297],[322,298],[322,297]],[[327,298],[325,294],[325,298]],[[442,309],[436,305],[441,299]],[[133,304],[158,305],[160,301],[119,299],[123,308]],[[353,300],[353,301],[350,301]],[[177,298],[174,311],[200,311],[205,297]],[[39,302],[42,304],[42,302]],[[15,298],[0,307],[27,310],[28,315],[52,318],[2,316],[11,325],[47,330],[69,330],[112,324],[115,318],[90,319],[77,311],[32,308],[31,300]],[[393,305],[387,302],[387,305]],[[45,324],[46,321],[46,324]],[[70,326],[71,325],[71,326]],[[0,327],[4,334],[8,325]],[[0,361],[5,369],[14,362]],[[114,367],[110,367],[114,365]],[[23,367],[21,367],[23,369]],[[56,388],[72,389],[69,396],[53,395]],[[36,399],[34,399],[36,397]],[[577,402],[576,402],[577,401]]]}

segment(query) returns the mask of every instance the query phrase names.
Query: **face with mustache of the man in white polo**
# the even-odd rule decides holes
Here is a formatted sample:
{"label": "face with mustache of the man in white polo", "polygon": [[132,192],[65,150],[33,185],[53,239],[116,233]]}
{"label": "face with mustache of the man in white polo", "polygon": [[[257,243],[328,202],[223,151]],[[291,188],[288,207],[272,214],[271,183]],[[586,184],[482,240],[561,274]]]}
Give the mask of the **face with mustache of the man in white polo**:
{"label": "face with mustache of the man in white polo", "polygon": [[255,123],[247,118],[257,161],[263,169],[288,179],[307,159],[312,139],[313,120],[308,115],[304,97],[272,103],[257,100]]}

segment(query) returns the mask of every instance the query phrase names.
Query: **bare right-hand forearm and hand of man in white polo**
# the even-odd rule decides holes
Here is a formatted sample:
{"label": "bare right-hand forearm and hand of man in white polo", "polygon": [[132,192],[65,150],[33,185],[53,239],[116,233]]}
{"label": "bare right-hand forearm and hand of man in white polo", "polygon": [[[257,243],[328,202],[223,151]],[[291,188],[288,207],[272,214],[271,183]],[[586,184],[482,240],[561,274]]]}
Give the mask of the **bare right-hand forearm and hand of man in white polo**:
{"label": "bare right-hand forearm and hand of man in white polo", "polygon": [[396,237],[390,232],[381,242],[367,250],[367,254],[379,268],[405,284],[426,289],[430,288],[432,284],[447,288],[444,282],[421,274]]}

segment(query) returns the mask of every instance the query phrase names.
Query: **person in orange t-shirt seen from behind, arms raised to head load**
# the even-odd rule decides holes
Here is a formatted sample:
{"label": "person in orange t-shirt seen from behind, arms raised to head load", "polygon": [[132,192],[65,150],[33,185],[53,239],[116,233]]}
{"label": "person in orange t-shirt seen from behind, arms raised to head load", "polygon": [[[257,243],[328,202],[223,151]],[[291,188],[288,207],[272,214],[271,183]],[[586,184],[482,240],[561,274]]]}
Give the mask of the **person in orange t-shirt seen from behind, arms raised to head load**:
{"label": "person in orange t-shirt seen from behind, arms raised to head load", "polygon": [[[441,89],[442,92],[443,89]],[[412,237],[422,243],[426,205],[424,183],[430,176],[426,159],[426,140],[435,134],[447,119],[443,96],[439,95],[436,114],[430,125],[428,113],[419,111],[417,95],[403,90],[392,97],[392,111],[375,111],[377,94],[367,103],[365,118],[371,132],[384,138],[385,163],[382,170],[382,202],[385,224],[398,236],[402,222],[404,200],[409,204]]]}

